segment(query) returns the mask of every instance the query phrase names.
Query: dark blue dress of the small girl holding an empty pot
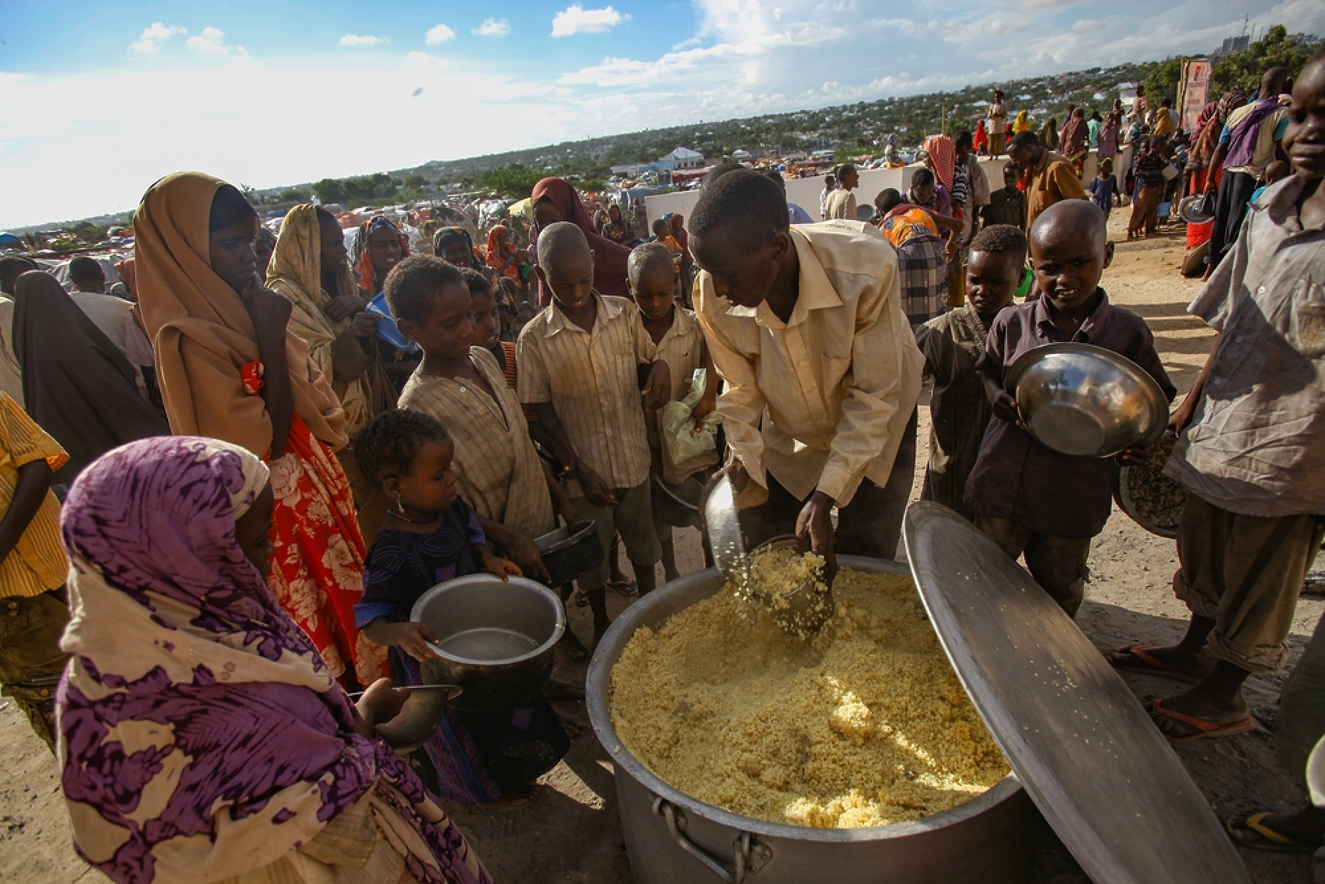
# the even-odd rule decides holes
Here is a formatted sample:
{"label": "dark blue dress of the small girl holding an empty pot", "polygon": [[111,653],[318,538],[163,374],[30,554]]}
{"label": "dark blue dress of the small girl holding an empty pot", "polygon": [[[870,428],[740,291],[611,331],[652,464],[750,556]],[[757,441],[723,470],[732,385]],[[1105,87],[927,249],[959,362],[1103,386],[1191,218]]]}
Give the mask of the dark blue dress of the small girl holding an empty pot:
{"label": "dark blue dress of the small girl holding an empty pot", "polygon": [[[364,563],[363,598],[354,606],[355,626],[363,630],[378,618],[408,620],[420,595],[437,583],[480,570],[474,546],[485,539],[478,518],[458,498],[433,531],[383,530]],[[391,648],[391,680],[398,685],[423,684],[419,661]],[[570,738],[556,713],[541,698],[534,706],[490,713],[448,708],[415,762],[439,797],[476,804],[533,782],[568,749]]]}

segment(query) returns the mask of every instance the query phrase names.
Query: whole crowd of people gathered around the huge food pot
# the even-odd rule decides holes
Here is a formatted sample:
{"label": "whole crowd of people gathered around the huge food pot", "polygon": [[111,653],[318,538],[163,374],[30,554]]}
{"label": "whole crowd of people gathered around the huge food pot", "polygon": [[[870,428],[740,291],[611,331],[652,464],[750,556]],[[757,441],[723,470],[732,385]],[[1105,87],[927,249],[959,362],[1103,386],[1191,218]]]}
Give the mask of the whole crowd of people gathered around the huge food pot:
{"label": "whole crowd of people gathered around the huge food pot", "polygon": [[[1190,492],[1174,588],[1191,626],[1109,656],[1189,683],[1151,706],[1174,742],[1253,726],[1242,685],[1284,665],[1325,534],[1325,53],[1284,89],[1268,72],[1249,103],[1226,95],[1187,155],[1222,229],[1190,307],[1219,334],[1166,468]],[[0,681],[57,753],[80,855],[126,883],[486,881],[439,798],[522,801],[570,740],[538,700],[448,709],[398,755],[376,725],[435,653],[413,603],[470,574],[551,582],[535,538],[592,520],[603,562],[555,587],[591,610],[588,641],[567,639],[583,655],[608,588],[645,595],[659,563],[677,577],[660,494],[717,470],[749,542],[795,534],[831,582],[839,553],[897,554],[920,456],[922,497],[1075,616],[1117,464],[1036,441],[1007,378],[1034,347],[1084,342],[1177,395],[1146,322],[1100,285],[1110,208],[1130,190],[1145,235],[1170,184],[1181,127],[1143,101],[1121,137],[1120,107],[1035,133],[995,93],[988,126],[928,139],[869,221],[851,166],[808,223],[780,175],[733,163],[648,241],[633,211],[550,178],[527,235],[498,224],[481,248],[439,227],[417,253],[383,216],[347,247],[311,204],[264,243],[238,190],[182,172],[138,208],[123,298],[95,261],[70,264],[66,293],[0,260]],[[978,158],[1003,152],[991,190]],[[661,420],[678,403],[680,429]],[[721,432],[677,457],[672,435],[714,412]],[[1317,637],[1281,716],[1297,777],[1325,734]],[[1312,850],[1322,823],[1230,831]]]}

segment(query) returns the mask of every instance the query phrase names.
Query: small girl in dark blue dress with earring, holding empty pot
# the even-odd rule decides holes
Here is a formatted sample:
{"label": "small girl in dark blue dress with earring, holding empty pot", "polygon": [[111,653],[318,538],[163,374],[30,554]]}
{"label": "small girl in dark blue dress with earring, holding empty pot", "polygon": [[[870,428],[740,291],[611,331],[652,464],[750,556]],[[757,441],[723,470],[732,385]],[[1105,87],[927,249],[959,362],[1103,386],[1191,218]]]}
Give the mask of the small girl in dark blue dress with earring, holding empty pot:
{"label": "small girl in dark blue dress with earring, holding empty pot", "polygon": [[[415,411],[386,411],[359,431],[354,455],[392,509],[368,550],[355,622],[363,636],[391,648],[398,685],[423,684],[419,664],[435,641],[409,611],[437,583],[486,571],[519,575],[514,562],[488,549],[473,510],[456,494],[454,444],[445,428]],[[546,700],[490,713],[447,709],[437,732],[415,754],[437,795],[470,804],[522,797],[570,749]],[[432,770],[428,770],[428,769]],[[429,775],[432,774],[432,775]]]}

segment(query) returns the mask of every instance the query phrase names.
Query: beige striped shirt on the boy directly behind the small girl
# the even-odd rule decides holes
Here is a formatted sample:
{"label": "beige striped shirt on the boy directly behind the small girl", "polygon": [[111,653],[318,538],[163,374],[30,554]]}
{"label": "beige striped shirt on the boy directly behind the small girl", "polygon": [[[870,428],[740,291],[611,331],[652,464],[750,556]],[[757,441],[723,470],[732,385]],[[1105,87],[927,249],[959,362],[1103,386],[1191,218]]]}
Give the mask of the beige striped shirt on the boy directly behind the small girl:
{"label": "beige striped shirt on the boy directly behind the small girl", "polygon": [[469,359],[497,395],[494,402],[469,380],[409,375],[400,407],[441,421],[456,444],[452,472],[460,498],[485,518],[538,537],[556,527],[547,478],[529,439],[529,427],[505,384],[496,357],[470,347]]}

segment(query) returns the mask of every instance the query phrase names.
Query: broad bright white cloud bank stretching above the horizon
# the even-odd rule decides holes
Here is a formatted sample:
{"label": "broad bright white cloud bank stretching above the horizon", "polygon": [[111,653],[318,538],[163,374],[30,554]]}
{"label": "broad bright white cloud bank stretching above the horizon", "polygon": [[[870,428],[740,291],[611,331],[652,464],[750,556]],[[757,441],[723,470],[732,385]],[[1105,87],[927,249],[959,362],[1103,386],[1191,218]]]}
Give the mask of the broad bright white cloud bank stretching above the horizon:
{"label": "broad bright white cloud bank stretching above the horizon", "polygon": [[[579,1],[596,7],[617,0]],[[1106,9],[1077,3],[1036,13],[1018,12],[1031,0],[984,0],[980,5],[926,0],[905,11],[877,0],[856,0],[855,5],[851,0],[689,1],[698,23],[693,34],[680,33],[665,42],[615,41],[606,58],[595,54],[602,50],[586,56],[582,44],[566,41],[558,49],[566,49],[568,62],[523,56],[494,61],[462,53],[448,60],[379,48],[363,53],[367,58],[355,77],[346,80],[343,56],[330,46],[321,58],[244,57],[244,64],[236,64],[236,48],[221,65],[199,64],[220,56],[171,53],[170,41],[182,29],[160,25],[160,30],[148,29],[144,40],[166,50],[138,54],[152,64],[106,61],[99,69],[60,74],[0,70],[0,193],[5,197],[0,229],[131,209],[154,180],[179,168],[265,188],[586,135],[1206,52],[1239,33],[1248,9],[1257,28],[1283,21],[1325,33],[1320,0],[1114,0]],[[1075,32],[1073,25],[1086,19],[1098,23]],[[1028,21],[1030,27],[1000,36],[991,30],[999,20]],[[200,23],[191,24],[197,33]],[[224,46],[228,36],[211,42]],[[131,106],[86,101],[107,78],[135,95]],[[352,142],[329,143],[313,155],[236,151],[233,134],[264,126],[266,110],[252,102],[235,105],[227,97],[261,94],[272,82],[292,78],[335,80],[341,86],[282,109],[288,126],[313,131],[344,106],[371,106],[384,119],[411,121],[411,138],[388,139],[371,156]],[[29,107],[68,113],[21,113]],[[466,125],[454,126],[456,119]],[[505,125],[510,119],[521,125]],[[89,154],[105,162],[89,166]],[[105,175],[106,167],[115,168],[115,175]]]}

